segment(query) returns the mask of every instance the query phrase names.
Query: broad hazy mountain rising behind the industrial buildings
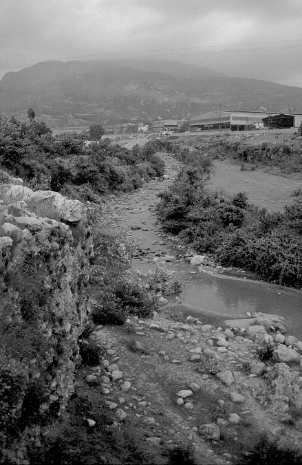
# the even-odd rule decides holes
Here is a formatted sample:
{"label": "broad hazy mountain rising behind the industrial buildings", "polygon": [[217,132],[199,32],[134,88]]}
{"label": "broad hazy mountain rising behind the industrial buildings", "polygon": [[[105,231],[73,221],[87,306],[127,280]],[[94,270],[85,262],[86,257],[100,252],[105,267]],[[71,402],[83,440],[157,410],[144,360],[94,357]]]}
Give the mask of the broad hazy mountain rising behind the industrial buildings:
{"label": "broad hazy mountain rising behind the industrial buildings", "polygon": [[49,125],[190,118],[211,109],[302,113],[302,89],[169,60],[45,61],[5,74],[0,111]]}

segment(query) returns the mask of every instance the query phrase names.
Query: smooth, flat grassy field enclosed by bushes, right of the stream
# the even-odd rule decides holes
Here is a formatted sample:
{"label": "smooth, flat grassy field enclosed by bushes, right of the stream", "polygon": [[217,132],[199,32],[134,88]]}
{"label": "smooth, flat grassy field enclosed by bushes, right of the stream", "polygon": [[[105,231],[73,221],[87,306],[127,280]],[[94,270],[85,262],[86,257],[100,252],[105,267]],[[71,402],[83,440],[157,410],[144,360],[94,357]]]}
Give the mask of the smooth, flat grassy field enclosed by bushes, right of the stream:
{"label": "smooth, flat grassy field enclosed by bushes, right of the stream", "polygon": [[302,187],[302,179],[266,173],[264,169],[241,171],[232,160],[215,160],[215,171],[207,186],[223,189],[228,194],[245,191],[252,204],[268,210],[283,210],[292,202],[292,191]]}

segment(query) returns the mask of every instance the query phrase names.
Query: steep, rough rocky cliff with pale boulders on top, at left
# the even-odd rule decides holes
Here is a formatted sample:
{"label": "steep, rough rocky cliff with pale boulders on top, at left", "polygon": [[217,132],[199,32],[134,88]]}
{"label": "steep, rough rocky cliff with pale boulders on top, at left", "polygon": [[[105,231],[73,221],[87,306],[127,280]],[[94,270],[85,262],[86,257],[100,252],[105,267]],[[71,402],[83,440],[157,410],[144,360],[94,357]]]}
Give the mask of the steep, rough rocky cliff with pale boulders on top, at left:
{"label": "steep, rough rocky cliff with pale boulders on top, at left", "polygon": [[83,204],[0,182],[0,442],[26,464],[20,444],[39,443],[74,392],[93,245]]}

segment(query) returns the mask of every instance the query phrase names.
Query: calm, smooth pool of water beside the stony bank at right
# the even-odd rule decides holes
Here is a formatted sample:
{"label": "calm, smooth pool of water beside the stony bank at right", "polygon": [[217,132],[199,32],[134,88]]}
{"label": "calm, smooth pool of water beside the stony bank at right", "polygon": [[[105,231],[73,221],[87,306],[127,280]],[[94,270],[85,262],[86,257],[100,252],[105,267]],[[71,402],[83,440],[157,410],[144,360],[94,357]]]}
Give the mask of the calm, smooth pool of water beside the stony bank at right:
{"label": "calm, smooth pool of water beside the stony bank at right", "polygon": [[[186,263],[167,263],[177,272],[182,282],[183,303],[201,312],[222,314],[224,318],[246,316],[247,312],[264,312],[284,316],[288,333],[302,340],[301,292],[279,285],[209,275],[203,272],[191,274],[196,268]],[[135,268],[148,271],[154,263],[135,264]]]}

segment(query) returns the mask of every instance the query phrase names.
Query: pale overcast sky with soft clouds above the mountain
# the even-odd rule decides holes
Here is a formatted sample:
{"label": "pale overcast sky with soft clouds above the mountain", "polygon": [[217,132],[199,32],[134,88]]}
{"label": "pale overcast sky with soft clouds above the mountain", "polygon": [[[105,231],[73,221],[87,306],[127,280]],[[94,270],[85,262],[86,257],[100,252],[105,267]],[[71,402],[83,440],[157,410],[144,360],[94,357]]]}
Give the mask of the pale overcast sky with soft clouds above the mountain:
{"label": "pale overcast sky with soft clouds above the mountain", "polygon": [[49,59],[180,54],[302,87],[301,23],[302,0],[0,0],[0,78]]}

